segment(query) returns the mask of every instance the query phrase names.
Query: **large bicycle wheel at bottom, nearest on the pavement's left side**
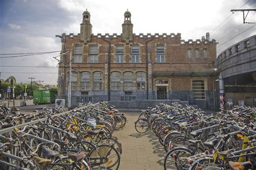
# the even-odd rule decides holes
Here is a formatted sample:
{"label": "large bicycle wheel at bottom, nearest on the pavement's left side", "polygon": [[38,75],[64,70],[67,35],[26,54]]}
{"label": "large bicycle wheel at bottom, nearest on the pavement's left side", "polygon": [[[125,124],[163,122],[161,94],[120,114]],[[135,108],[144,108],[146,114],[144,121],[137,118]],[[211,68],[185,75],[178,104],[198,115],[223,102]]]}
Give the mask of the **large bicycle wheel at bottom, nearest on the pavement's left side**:
{"label": "large bicycle wheel at bottom, nearest on the pavement's left side", "polygon": [[91,167],[118,169],[120,165],[120,154],[117,149],[109,144],[96,145],[88,155]]}

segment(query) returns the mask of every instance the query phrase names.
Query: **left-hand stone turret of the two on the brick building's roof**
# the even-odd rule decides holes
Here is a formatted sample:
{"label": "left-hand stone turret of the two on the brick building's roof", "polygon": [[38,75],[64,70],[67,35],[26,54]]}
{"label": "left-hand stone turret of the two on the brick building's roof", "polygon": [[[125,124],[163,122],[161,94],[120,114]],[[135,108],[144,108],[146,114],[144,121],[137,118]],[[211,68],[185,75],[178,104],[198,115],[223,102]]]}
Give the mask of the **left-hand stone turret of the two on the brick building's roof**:
{"label": "left-hand stone turret of the two on the brick building's roof", "polygon": [[83,22],[80,24],[80,40],[83,40],[84,44],[91,40],[92,25],[90,23],[90,17],[90,12],[86,9],[83,13]]}

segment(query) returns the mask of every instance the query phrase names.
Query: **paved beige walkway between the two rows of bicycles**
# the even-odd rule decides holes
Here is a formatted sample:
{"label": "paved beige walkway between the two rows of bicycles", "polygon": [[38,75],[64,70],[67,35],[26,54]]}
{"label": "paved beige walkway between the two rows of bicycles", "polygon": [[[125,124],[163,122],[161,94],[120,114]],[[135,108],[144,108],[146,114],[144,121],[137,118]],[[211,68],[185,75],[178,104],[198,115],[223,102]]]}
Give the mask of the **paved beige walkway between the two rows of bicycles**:
{"label": "paved beige walkway between the two rows of bicycles", "polygon": [[127,123],[122,130],[113,133],[122,143],[123,154],[119,169],[164,169],[165,151],[152,130],[140,134],[135,130],[134,121],[139,113],[125,113]]}

